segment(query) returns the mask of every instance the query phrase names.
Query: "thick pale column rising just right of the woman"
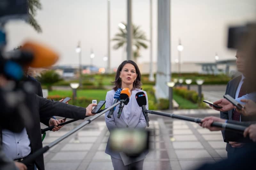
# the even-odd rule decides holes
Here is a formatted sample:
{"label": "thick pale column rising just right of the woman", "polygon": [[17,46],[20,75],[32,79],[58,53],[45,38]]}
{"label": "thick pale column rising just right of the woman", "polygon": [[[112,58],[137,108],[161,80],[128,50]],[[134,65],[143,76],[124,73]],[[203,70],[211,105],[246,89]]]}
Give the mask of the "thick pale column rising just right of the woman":
{"label": "thick pale column rising just right of the woman", "polygon": [[171,2],[158,0],[156,97],[169,98],[166,85],[171,79]]}

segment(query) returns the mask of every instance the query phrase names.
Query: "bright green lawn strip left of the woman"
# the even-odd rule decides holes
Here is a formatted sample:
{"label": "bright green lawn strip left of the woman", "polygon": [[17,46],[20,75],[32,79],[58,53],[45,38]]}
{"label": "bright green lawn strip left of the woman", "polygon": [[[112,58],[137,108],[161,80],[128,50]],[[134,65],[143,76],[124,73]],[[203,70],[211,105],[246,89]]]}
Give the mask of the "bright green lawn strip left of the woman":
{"label": "bright green lawn strip left of the woman", "polygon": [[[77,90],[77,97],[93,98],[95,100],[105,100],[108,90]],[[70,90],[53,90],[49,92],[49,96],[59,95],[72,97],[72,91]]]}

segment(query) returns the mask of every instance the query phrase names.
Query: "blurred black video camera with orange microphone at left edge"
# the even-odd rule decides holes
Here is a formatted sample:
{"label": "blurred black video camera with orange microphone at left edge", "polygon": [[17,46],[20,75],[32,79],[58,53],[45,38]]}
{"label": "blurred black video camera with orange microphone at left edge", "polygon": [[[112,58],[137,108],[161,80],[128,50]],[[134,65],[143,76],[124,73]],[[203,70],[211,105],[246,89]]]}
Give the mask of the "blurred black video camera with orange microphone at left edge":
{"label": "blurred black video camera with orange microphone at left edge", "polygon": [[27,20],[28,0],[2,0],[0,3],[0,107],[2,129],[20,132],[32,124],[27,98],[35,88],[27,81],[25,67],[47,67],[58,60],[51,49],[34,43],[25,42],[20,49],[5,52],[7,44],[5,24],[9,20]]}

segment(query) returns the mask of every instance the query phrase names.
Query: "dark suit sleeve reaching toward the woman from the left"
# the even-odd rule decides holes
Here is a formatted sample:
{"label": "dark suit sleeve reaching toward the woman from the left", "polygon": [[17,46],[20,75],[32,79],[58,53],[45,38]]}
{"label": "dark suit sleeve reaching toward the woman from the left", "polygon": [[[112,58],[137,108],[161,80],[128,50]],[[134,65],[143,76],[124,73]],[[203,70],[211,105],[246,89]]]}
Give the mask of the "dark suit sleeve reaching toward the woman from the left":
{"label": "dark suit sleeve reaching toward the woman from the left", "polygon": [[68,105],[59,101],[51,101],[37,96],[39,100],[40,118],[47,118],[53,115],[67,117],[71,119],[84,119],[86,108]]}

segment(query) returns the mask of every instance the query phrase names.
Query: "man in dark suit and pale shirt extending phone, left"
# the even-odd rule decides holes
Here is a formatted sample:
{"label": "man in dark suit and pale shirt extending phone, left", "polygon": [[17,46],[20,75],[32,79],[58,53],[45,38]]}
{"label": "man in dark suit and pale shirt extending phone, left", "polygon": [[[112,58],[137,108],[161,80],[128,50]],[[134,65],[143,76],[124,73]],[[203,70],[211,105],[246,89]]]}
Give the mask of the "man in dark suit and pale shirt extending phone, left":
{"label": "man in dark suit and pale shirt extending phone, left", "polygon": [[[26,97],[24,101],[28,106],[33,120],[30,122],[31,125],[27,125],[21,133],[16,134],[13,134],[7,129],[2,130],[5,130],[2,138],[3,151],[10,159],[22,159],[27,157],[28,154],[32,154],[42,148],[40,118],[48,118],[56,115],[72,119],[84,119],[87,116],[94,115],[91,112],[92,106],[96,106],[96,104],[90,104],[86,108],[76,107],[59,101],[47,100],[35,93],[30,93]],[[26,166],[28,170],[34,170],[35,165],[37,169],[44,170],[43,155],[40,155],[34,162]]]}

